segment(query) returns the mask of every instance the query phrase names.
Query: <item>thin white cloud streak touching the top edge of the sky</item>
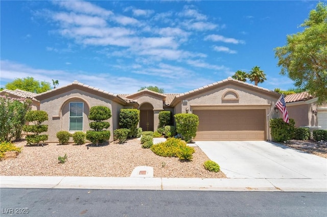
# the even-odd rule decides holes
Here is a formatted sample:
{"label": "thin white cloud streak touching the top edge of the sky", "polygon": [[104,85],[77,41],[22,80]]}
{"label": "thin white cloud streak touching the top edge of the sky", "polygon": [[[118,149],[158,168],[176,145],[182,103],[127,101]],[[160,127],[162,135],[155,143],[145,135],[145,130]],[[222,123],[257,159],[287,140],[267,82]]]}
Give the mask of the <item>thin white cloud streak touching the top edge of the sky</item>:
{"label": "thin white cloud streak touching the top edge of the sky", "polygon": [[109,16],[113,13],[111,11],[100,8],[94,4],[83,1],[53,1],[53,4],[59,5],[68,10],[72,10],[79,13],[98,15],[98,16]]}

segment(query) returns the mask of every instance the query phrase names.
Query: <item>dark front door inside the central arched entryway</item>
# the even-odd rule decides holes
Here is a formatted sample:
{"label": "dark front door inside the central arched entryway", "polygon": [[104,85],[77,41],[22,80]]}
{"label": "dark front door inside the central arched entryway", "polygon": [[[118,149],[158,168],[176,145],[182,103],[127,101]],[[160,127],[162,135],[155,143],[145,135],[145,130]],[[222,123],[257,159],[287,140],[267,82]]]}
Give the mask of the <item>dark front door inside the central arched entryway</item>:
{"label": "dark front door inside the central arched entryway", "polygon": [[144,103],[139,107],[139,127],[143,131],[153,131],[153,106]]}

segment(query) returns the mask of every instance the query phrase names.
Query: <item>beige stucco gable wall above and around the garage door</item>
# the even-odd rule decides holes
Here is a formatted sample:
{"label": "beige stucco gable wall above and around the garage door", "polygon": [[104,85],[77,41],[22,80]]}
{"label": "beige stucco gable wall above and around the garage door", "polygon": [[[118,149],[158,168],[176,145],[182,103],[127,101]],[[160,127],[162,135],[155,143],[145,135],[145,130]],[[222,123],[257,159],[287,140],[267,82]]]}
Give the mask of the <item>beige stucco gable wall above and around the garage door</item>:
{"label": "beige stucco gable wall above and around the garage door", "polygon": [[[224,99],[223,99],[224,96]],[[182,102],[182,100],[187,102]],[[199,91],[198,94],[190,94],[182,97],[182,100],[176,104],[175,113],[185,113],[186,107],[190,112],[193,109],[256,109],[261,108],[266,111],[266,138],[271,140],[269,119],[276,116],[269,112],[278,100],[278,95],[265,93],[265,91],[256,90],[251,87],[243,87],[234,84],[222,85],[212,88],[208,91]],[[200,107],[199,107],[200,106]]]}

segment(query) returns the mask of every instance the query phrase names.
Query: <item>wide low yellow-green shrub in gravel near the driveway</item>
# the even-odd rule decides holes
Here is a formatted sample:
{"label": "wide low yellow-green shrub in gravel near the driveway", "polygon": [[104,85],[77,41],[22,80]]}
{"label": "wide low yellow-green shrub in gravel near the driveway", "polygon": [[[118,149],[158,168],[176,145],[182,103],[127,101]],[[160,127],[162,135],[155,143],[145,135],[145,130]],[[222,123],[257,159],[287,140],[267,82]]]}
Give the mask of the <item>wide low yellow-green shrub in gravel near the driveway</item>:
{"label": "wide low yellow-green shrub in gravel near the driveway", "polygon": [[166,142],[151,146],[153,153],[163,157],[177,157],[181,147],[186,147],[185,141],[175,138],[168,138]]}

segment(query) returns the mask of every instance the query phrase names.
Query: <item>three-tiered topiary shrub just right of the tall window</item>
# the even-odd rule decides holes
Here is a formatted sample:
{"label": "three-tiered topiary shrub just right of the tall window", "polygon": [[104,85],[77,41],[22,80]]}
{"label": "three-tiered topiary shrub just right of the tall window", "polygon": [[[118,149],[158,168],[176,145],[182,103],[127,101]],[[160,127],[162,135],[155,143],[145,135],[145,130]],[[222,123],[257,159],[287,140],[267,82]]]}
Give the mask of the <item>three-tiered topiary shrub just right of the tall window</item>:
{"label": "three-tiered topiary shrub just right of the tall window", "polygon": [[110,139],[110,131],[103,130],[110,127],[109,122],[104,122],[111,118],[110,108],[102,105],[92,106],[88,118],[94,122],[89,123],[90,128],[94,130],[86,131],[86,139],[96,145]]}

